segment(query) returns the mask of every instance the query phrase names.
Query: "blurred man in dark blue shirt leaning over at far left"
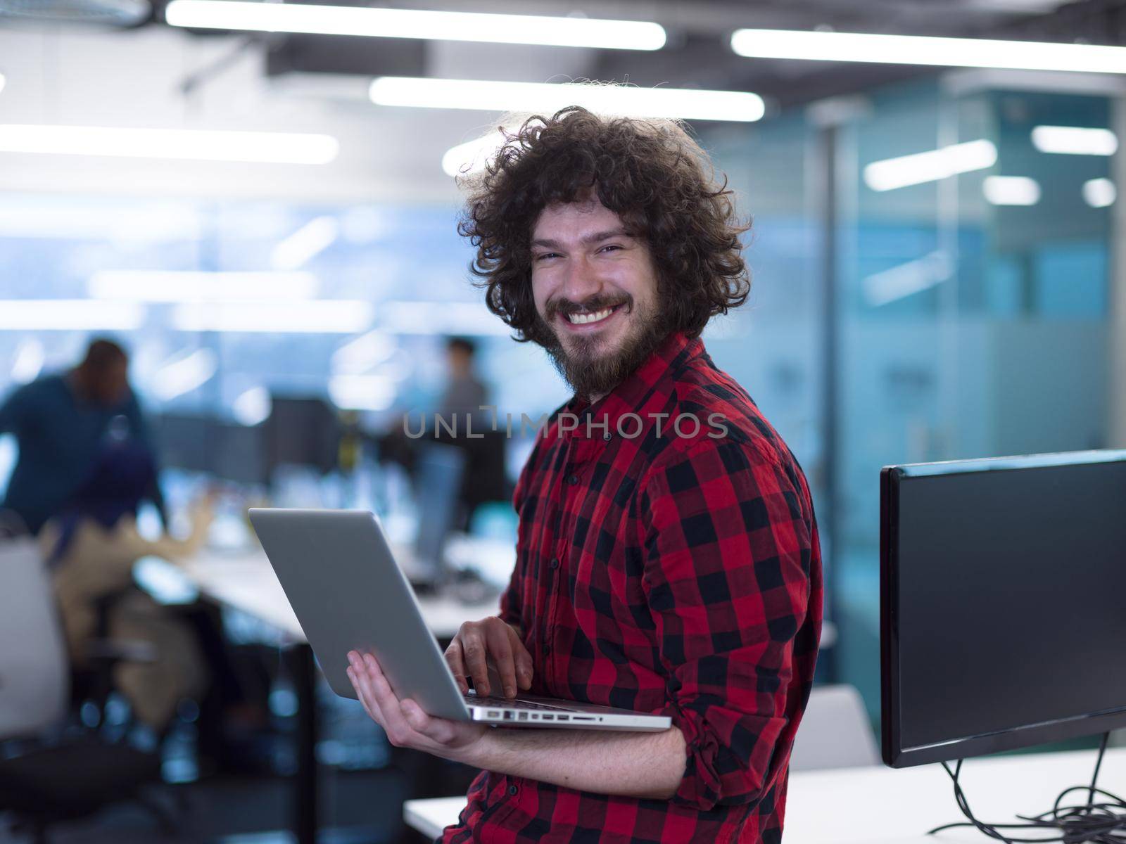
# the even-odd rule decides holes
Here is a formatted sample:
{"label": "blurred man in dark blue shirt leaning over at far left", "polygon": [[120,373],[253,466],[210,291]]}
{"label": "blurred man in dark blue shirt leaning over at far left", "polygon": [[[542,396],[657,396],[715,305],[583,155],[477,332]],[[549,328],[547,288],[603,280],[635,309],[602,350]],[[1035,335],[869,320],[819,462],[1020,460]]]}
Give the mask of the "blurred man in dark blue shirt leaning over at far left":
{"label": "blurred man in dark blue shirt leaning over at far left", "polygon": [[[111,340],[95,340],[70,371],[14,390],[0,405],[0,433],[7,432],[16,434],[19,458],[0,508],[38,533],[93,470],[107,441],[132,438],[148,446],[125,350]],[[146,497],[163,514],[155,485]]]}

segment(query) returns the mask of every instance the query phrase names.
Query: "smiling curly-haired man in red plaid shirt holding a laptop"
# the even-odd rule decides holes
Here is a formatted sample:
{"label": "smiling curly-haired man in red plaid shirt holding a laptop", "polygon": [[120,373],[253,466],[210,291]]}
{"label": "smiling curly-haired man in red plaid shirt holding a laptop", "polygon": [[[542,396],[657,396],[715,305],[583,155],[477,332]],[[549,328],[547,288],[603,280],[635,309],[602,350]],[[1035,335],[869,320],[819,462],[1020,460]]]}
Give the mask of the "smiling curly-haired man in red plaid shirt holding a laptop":
{"label": "smiling curly-haired man in red plaid shirt holding a laptop", "polygon": [[431,718],[349,654],[392,743],[482,769],[447,842],[781,838],[821,558],[801,468],[699,339],[749,290],[729,195],[678,125],[580,108],[526,123],[473,188],[461,231],[489,307],[548,350],[575,396],[517,485],[500,616],[464,625],[447,661],[463,689],[673,727]]}

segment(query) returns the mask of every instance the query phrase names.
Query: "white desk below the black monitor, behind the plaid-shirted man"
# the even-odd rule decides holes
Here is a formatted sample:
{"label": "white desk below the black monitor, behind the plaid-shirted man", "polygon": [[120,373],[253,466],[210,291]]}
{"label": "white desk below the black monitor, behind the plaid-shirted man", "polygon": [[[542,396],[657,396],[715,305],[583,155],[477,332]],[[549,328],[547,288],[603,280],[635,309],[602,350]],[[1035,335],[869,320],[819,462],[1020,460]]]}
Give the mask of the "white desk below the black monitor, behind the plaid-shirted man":
{"label": "white desk below the black monitor, behind the plaid-shirted man", "polygon": [[[962,787],[974,815],[985,823],[1017,821],[1017,814],[1047,811],[1071,785],[1090,784],[1097,752],[1020,754],[967,760]],[[1118,793],[1126,781],[1126,747],[1107,751],[1099,783]],[[1065,805],[1087,802],[1072,792]],[[403,819],[428,838],[457,821],[464,797],[408,800]],[[883,765],[790,774],[785,844],[983,844],[973,828],[927,835],[936,826],[965,820],[950,778],[938,765],[892,770]],[[1016,833],[1016,830],[1013,830]],[[1028,838],[1020,834],[1019,837]],[[1042,836],[1043,837],[1043,836]]]}

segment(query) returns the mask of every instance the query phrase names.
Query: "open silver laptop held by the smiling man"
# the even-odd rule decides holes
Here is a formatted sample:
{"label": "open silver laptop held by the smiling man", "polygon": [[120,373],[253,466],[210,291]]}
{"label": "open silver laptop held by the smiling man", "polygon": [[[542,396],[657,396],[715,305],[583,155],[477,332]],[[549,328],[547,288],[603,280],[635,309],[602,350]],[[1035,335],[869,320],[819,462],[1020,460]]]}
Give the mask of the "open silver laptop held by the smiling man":
{"label": "open silver laptop held by the smiling man", "polygon": [[348,652],[372,653],[426,712],[503,727],[660,731],[667,716],[549,698],[463,695],[378,519],[358,510],[252,509],[250,521],[332,690],[356,698]]}

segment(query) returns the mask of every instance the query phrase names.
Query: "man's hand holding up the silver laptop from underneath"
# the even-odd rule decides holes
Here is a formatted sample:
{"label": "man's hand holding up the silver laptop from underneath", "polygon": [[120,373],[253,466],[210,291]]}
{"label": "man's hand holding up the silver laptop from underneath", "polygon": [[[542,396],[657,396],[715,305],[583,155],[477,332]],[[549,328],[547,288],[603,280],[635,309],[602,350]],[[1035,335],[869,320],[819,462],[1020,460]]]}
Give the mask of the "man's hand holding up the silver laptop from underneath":
{"label": "man's hand holding up the silver laptop from underneath", "polygon": [[488,731],[483,724],[432,718],[410,698],[400,700],[370,654],[348,653],[348,679],[372,720],[383,727],[395,747],[472,764],[475,748]]}

